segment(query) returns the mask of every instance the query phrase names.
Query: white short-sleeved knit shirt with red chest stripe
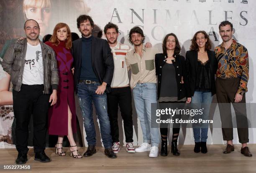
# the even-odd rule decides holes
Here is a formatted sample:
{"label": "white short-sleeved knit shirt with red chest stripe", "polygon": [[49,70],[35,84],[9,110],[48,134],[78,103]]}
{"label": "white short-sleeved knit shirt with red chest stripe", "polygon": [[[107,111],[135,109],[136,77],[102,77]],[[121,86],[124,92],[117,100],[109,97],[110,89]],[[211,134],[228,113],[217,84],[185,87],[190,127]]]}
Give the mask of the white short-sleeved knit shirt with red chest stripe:
{"label": "white short-sleeved knit shirt with red chest stripe", "polygon": [[114,59],[114,75],[111,83],[111,88],[129,86],[128,71],[125,62],[125,55],[130,50],[128,45],[117,43],[115,47],[110,47]]}

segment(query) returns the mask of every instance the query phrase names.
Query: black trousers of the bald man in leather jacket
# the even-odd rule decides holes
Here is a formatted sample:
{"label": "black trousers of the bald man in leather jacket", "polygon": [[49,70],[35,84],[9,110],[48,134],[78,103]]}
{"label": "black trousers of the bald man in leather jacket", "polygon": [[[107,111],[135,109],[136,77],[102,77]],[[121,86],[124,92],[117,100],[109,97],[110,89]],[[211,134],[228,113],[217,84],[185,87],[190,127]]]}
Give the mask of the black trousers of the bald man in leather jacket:
{"label": "black trousers of the bald man in leather jacket", "polygon": [[44,85],[21,85],[13,90],[13,111],[16,118],[16,149],[28,153],[28,124],[33,115],[34,152],[45,150],[49,94],[43,94]]}

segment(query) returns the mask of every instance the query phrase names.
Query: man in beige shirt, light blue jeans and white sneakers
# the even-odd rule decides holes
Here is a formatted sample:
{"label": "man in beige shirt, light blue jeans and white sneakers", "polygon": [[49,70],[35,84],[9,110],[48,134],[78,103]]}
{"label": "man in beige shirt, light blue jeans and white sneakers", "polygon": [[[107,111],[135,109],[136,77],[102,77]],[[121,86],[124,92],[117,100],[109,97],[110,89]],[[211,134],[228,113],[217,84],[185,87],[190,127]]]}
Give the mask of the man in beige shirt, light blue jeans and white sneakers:
{"label": "man in beige shirt, light blue jeans and white sneakers", "polygon": [[126,54],[126,65],[131,68],[130,86],[143,133],[143,143],[135,150],[150,151],[149,157],[157,157],[160,135],[158,128],[151,128],[151,103],[156,103],[157,100],[154,59],[158,50],[146,48],[143,45],[144,40],[141,28],[134,27],[130,30],[129,42],[134,48]]}

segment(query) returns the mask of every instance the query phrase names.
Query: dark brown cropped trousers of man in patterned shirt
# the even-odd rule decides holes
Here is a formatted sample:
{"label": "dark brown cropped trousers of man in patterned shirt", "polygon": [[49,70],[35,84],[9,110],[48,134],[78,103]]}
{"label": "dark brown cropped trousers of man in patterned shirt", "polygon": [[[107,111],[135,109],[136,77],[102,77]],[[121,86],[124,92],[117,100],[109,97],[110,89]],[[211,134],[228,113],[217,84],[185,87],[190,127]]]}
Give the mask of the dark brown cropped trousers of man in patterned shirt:
{"label": "dark brown cropped trousers of man in patterned shirt", "polygon": [[220,109],[223,140],[233,140],[233,124],[231,104],[236,113],[236,125],[240,143],[248,143],[248,121],[246,115],[246,96],[243,94],[241,102],[234,103],[240,78],[216,79],[216,95]]}

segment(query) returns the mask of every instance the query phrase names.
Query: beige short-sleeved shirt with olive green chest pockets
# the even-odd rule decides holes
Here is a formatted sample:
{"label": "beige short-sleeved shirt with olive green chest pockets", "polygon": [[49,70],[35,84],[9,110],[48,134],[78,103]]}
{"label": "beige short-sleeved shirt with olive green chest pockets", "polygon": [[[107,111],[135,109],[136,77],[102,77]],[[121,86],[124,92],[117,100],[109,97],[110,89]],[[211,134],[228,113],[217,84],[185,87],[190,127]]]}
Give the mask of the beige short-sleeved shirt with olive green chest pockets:
{"label": "beige short-sleeved shirt with olive green chest pockets", "polygon": [[131,89],[136,87],[137,83],[156,83],[155,55],[159,53],[156,48],[146,48],[143,45],[142,57],[135,52],[134,48],[130,50],[125,57],[126,65],[131,68]]}

